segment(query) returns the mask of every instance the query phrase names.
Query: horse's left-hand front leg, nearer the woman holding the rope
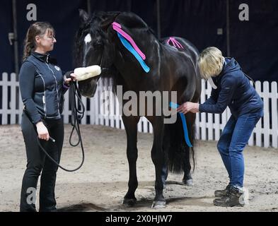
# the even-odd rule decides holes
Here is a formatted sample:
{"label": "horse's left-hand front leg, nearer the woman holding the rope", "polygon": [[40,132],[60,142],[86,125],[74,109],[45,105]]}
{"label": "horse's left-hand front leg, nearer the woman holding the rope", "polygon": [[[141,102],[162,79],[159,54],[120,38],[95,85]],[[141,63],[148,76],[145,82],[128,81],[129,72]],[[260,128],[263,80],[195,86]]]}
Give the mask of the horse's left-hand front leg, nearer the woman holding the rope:
{"label": "horse's left-hand front leg, nearer the woman holding the rope", "polygon": [[122,116],[124,128],[127,133],[127,160],[129,163],[129,182],[128,191],[124,196],[123,205],[134,206],[137,199],[135,198],[135,191],[138,186],[136,162],[138,156],[137,150],[137,124],[139,117],[125,117]]}

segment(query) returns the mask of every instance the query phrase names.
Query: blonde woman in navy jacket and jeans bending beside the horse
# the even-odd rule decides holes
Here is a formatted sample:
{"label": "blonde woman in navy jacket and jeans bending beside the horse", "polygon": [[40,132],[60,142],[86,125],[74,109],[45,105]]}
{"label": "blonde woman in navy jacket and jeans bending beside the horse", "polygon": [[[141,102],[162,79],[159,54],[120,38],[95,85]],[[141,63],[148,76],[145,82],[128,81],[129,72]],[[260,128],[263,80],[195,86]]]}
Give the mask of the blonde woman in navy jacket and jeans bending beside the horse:
{"label": "blonde woman in navy jacket and jeans bending beside the horse", "polygon": [[216,47],[208,47],[199,55],[202,78],[212,83],[212,93],[203,104],[185,102],[178,112],[221,114],[226,107],[231,117],[221,133],[217,149],[228,172],[229,183],[224,190],[214,192],[216,206],[244,206],[243,149],[257,121],[263,116],[263,102],[241,66],[233,58],[224,58]]}

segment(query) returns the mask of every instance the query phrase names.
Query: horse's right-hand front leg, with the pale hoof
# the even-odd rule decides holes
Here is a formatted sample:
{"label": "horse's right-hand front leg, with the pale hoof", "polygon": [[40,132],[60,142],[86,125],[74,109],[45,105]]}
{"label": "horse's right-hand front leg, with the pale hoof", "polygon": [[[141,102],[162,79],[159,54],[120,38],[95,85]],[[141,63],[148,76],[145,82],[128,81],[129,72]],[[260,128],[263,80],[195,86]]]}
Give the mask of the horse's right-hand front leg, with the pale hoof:
{"label": "horse's right-hand front leg, with the pale hoof", "polygon": [[156,196],[154,197],[152,208],[164,208],[166,206],[166,200],[163,197],[163,182],[161,178],[161,170],[164,165],[164,153],[163,153],[163,131],[164,122],[163,117],[155,117],[153,122],[154,127],[154,144],[151,149],[151,159],[154,162],[156,168]]}

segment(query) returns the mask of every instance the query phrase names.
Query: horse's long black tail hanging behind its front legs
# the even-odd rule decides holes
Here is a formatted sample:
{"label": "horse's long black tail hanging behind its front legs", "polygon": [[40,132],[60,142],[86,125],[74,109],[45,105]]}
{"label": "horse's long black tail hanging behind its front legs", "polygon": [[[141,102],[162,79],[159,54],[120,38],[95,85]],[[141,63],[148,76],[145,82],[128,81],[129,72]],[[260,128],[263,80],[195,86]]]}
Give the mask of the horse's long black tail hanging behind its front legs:
{"label": "horse's long black tail hanging behind its front legs", "polygon": [[185,143],[183,123],[179,114],[174,124],[165,124],[163,149],[166,161],[168,160],[168,169],[174,173],[184,171],[188,174],[191,169],[190,159],[193,163],[193,171],[195,169],[195,114],[187,113],[185,118],[192,148]]}

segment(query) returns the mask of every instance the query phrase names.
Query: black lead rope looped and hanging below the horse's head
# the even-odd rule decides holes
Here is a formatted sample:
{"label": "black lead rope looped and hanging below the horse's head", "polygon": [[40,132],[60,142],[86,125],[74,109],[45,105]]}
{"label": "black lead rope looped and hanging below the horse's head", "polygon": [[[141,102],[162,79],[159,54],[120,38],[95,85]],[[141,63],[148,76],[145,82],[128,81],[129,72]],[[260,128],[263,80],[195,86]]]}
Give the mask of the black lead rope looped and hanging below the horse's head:
{"label": "black lead rope looped and hanging below the horse's head", "polygon": [[[76,97],[77,97],[77,102],[76,102]],[[79,120],[81,120],[84,116],[85,106],[83,105],[83,102],[81,100],[81,93],[80,93],[79,89],[77,88],[76,81],[71,81],[71,83],[70,83],[69,102],[71,105],[71,126],[72,126],[71,135],[69,136],[69,144],[73,147],[76,147],[77,145],[79,145],[79,143],[81,144],[82,161],[81,161],[81,164],[79,165],[79,167],[77,167],[76,169],[66,169],[66,168],[62,167],[61,165],[59,165],[58,162],[56,162],[47,153],[47,151],[44,148],[42,148],[40,139],[38,137],[37,137],[37,143],[40,146],[40,148],[42,148],[45,155],[47,155],[47,157],[49,157],[50,160],[52,160],[52,162],[54,162],[58,167],[60,167],[61,169],[64,169],[64,171],[66,171],[66,172],[74,172],[81,168],[81,166],[83,165],[84,159],[85,159],[83,143],[82,143],[81,133],[80,133],[80,129],[79,129]],[[79,110],[79,106],[81,106],[81,110]],[[71,142],[71,138],[72,138],[72,134],[74,133],[74,130],[76,131],[77,136],[78,136],[78,142],[76,144],[73,144]],[[50,138],[50,140],[53,143],[55,142],[55,140],[53,138]]]}

